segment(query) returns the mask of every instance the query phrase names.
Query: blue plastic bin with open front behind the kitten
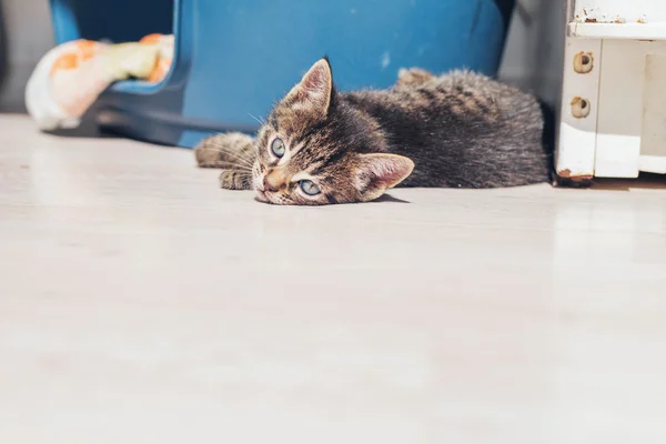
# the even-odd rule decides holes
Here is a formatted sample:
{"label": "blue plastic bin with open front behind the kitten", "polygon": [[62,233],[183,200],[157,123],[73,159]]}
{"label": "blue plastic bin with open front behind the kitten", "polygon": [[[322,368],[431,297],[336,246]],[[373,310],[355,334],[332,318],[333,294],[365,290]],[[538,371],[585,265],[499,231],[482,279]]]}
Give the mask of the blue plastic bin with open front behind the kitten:
{"label": "blue plastic bin with open front behind the kitten", "polygon": [[193,147],[253,132],[314,61],[342,90],[385,88],[403,67],[495,74],[514,0],[51,0],[57,42],[175,36],[157,85],[124,81],[100,98],[102,129]]}

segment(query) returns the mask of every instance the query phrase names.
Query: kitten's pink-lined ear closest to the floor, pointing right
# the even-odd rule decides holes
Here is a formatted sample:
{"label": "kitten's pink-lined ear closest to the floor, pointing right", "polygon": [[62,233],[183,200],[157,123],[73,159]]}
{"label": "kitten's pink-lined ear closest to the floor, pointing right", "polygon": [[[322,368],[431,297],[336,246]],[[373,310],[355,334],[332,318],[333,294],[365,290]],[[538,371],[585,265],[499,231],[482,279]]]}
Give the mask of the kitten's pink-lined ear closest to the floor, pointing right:
{"label": "kitten's pink-lined ear closest to the floor, pointing right", "polygon": [[372,201],[405,180],[413,170],[414,162],[403,155],[359,154],[356,189],[363,201]]}

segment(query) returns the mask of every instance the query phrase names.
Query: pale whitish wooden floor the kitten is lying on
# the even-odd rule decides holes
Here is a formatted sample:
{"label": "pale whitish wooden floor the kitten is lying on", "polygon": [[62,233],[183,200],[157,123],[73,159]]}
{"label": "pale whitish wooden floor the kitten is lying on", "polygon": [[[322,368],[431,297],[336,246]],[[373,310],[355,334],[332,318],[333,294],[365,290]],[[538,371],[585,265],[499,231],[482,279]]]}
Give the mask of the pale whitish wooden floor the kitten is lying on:
{"label": "pale whitish wooden floor the kitten is lying on", "polygon": [[666,442],[666,181],[392,196],[0,117],[0,443]]}

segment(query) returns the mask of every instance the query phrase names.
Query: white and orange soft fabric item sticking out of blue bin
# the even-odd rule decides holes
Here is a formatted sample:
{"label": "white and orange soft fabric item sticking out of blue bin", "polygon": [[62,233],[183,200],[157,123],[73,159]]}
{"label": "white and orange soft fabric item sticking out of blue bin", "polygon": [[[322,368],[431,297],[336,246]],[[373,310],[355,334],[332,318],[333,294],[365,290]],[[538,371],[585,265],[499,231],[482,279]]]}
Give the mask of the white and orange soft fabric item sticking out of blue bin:
{"label": "white and orange soft fabric item sticking out of blue bin", "polygon": [[173,36],[107,44],[74,40],[50,50],[26,88],[26,107],[41,130],[71,129],[109,85],[129,78],[161,82],[173,60]]}

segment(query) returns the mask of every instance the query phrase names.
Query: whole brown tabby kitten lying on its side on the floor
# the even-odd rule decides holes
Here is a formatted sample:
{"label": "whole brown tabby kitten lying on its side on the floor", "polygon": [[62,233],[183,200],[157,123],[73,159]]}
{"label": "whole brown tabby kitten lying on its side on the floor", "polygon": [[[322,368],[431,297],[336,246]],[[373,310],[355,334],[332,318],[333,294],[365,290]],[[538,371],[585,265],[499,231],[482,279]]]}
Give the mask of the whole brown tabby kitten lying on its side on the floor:
{"label": "whole brown tabby kitten lying on its side on the floor", "polygon": [[220,184],[262,202],[372,201],[402,186],[496,188],[546,182],[536,99],[484,75],[401,70],[390,90],[335,90],[317,61],[278,103],[256,139],[213,135],[194,150]]}

